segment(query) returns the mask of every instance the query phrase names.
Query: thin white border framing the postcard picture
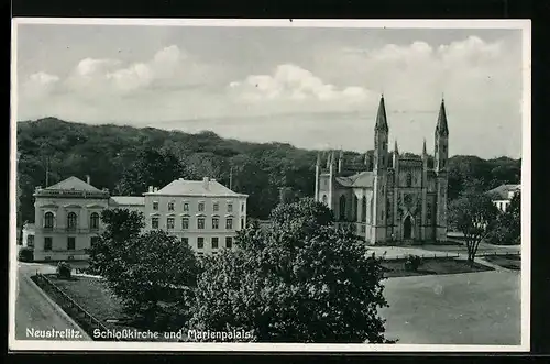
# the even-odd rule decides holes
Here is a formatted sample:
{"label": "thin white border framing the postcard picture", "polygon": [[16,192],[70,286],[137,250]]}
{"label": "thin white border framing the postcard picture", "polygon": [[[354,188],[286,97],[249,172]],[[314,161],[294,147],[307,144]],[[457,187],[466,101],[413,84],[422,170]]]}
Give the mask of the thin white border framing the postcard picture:
{"label": "thin white border framing the postcard picture", "polygon": [[[23,24],[364,27],[364,29],[516,29],[522,33],[521,153],[521,343],[519,345],[446,344],[300,344],[300,343],[158,343],[72,342],[15,339],[16,295],[16,111],[18,26]],[[240,20],[240,19],[99,19],[14,18],[12,20],[10,128],[9,349],[12,351],[178,351],[178,352],[526,352],[530,350],[531,216],[531,25],[530,20]]]}

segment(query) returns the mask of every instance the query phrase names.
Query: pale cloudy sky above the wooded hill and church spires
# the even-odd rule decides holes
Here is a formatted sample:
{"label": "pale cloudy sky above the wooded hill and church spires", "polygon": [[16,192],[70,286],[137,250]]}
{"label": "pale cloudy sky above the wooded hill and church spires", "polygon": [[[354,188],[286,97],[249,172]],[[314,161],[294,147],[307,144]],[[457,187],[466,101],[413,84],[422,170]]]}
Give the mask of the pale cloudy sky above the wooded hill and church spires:
{"label": "pale cloudy sky above the wooded hill and church spires", "polygon": [[16,118],[420,153],[521,155],[521,31],[20,24]]}

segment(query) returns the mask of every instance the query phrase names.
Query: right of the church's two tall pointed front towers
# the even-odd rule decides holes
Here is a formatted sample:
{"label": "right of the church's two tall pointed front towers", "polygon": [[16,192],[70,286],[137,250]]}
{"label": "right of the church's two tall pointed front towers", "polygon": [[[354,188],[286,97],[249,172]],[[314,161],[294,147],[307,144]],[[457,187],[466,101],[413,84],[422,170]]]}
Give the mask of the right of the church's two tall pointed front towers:
{"label": "right of the church's two tall pointed front towers", "polygon": [[449,159],[449,126],[444,100],[441,99],[438,123],[436,125],[436,240],[447,240],[447,189],[448,189],[448,159]]}

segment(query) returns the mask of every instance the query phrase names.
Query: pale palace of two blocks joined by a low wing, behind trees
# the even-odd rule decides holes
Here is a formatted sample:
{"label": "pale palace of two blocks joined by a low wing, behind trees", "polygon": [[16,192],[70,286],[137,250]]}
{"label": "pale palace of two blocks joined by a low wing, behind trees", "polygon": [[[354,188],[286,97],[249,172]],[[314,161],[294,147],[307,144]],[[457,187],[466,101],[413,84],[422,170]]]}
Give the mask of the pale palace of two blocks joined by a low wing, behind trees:
{"label": "pale palace of two blocks joined by a low wing, behind trees", "polygon": [[143,212],[144,230],[169,231],[199,255],[232,249],[246,223],[248,196],[213,179],[177,179],[143,195],[110,196],[77,177],[37,187],[35,222],[23,227],[23,245],[34,249],[35,261],[87,260],[86,249],[105,230],[101,211],[109,208]]}

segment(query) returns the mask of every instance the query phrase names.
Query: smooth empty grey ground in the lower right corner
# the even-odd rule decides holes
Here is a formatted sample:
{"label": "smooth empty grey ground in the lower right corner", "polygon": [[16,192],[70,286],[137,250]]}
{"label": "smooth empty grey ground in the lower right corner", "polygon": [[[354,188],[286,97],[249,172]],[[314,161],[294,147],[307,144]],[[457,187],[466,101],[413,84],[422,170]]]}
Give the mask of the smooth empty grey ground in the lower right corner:
{"label": "smooth empty grey ground in the lower right corner", "polygon": [[520,343],[519,272],[384,280],[387,339],[397,344]]}

